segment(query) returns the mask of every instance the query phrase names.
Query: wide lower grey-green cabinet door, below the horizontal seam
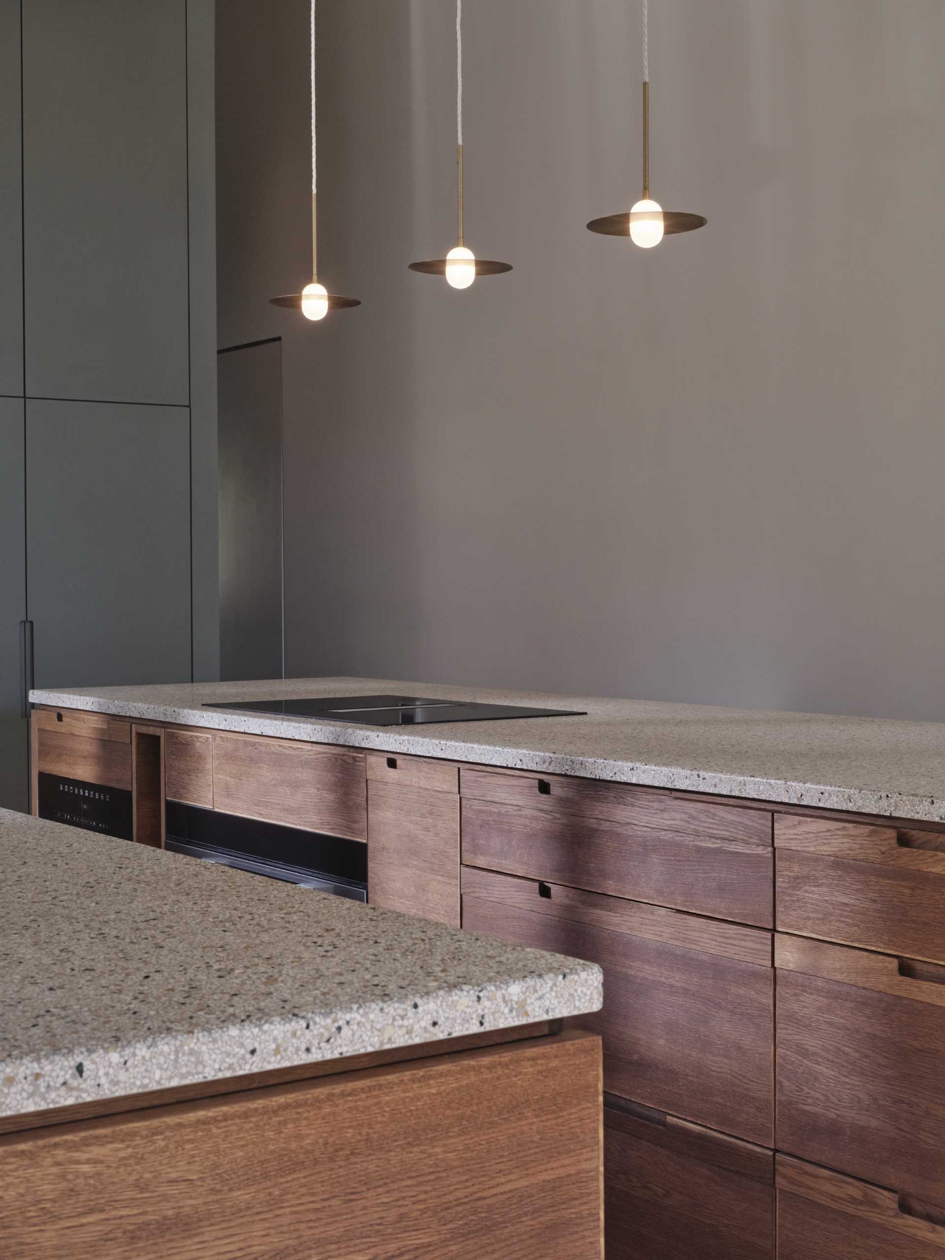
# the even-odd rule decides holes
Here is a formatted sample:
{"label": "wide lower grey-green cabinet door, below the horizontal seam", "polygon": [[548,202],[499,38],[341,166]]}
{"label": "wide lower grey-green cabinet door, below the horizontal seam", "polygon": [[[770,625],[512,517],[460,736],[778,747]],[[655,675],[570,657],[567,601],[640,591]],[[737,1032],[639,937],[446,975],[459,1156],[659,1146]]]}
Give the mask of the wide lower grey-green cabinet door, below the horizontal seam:
{"label": "wide lower grey-green cabinet door, below the horizontal seam", "polygon": [[190,679],[189,415],[26,401],[37,687]]}

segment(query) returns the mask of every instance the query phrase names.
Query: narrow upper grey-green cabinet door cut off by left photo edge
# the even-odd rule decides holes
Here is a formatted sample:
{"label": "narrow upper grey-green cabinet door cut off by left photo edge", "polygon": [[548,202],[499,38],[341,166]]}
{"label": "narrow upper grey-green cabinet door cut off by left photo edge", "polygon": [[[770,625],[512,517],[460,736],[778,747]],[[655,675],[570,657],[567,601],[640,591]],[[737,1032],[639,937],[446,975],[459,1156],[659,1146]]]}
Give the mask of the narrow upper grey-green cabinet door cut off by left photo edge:
{"label": "narrow upper grey-green cabinet door cut off by left photo edge", "polygon": [[0,394],[23,393],[20,155],[20,0],[0,0]]}

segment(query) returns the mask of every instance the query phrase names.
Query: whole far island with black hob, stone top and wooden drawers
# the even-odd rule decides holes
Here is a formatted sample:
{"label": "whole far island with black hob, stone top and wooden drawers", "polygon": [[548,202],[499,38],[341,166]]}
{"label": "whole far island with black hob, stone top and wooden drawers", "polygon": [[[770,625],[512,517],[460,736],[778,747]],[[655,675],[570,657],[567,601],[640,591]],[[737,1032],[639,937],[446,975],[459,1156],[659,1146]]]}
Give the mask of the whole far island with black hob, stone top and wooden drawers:
{"label": "whole far island with black hob, stone top and wooden drawers", "polygon": [[[586,713],[205,707],[388,693]],[[33,699],[39,811],[234,862],[257,820],[374,906],[600,963],[609,1260],[945,1260],[945,726],[338,678]]]}

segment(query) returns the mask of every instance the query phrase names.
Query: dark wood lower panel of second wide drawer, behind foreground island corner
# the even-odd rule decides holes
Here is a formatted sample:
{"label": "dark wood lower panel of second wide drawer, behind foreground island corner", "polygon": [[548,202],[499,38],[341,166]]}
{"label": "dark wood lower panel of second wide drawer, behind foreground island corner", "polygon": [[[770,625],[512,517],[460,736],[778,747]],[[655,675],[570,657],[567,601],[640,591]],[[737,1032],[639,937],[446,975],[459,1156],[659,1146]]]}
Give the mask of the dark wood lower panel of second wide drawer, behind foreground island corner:
{"label": "dark wood lower panel of second wide drawer, behind foreground island corner", "polygon": [[577,1023],[604,1037],[605,1089],[772,1145],[771,968],[576,921],[534,888],[541,910],[464,893],[462,926],[600,964],[604,1009]]}

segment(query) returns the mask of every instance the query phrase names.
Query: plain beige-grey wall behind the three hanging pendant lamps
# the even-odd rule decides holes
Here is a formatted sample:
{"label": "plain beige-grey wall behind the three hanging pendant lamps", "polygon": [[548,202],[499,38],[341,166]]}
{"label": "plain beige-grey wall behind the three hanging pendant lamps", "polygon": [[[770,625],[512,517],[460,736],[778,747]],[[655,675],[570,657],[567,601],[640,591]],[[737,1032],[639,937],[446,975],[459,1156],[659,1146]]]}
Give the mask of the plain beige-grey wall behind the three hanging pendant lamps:
{"label": "plain beige-grey wall behind the three hanging pendant lamps", "polygon": [[364,305],[304,329],[277,8],[301,126],[241,129],[220,319],[289,338],[286,672],[945,719],[945,4],[651,0],[653,193],[709,223],[643,252],[583,227],[639,195],[639,5],[467,0],[466,241],[515,270],[457,294],[406,270],[455,239],[451,0],[320,0]]}

